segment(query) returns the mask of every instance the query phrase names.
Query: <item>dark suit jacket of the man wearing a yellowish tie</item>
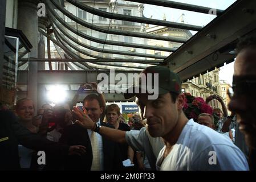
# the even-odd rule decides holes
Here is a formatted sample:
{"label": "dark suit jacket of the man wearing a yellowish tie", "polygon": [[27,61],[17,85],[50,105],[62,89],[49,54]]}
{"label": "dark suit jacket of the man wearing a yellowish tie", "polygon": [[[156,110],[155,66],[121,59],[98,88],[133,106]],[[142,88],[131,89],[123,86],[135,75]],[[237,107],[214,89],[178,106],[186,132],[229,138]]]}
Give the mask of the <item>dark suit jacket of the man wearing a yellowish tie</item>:
{"label": "dark suit jacket of the man wearing a yellowish tie", "polygon": [[[109,125],[103,123],[102,126]],[[103,154],[104,154],[104,171],[120,170],[123,168],[121,155],[118,144],[111,140],[102,137],[103,140]],[[90,171],[92,165],[92,146],[87,129],[74,124],[68,126],[60,138],[59,142],[66,144],[76,144],[86,147],[86,154],[82,156],[73,155],[67,156],[64,169],[68,170],[84,170]]]}

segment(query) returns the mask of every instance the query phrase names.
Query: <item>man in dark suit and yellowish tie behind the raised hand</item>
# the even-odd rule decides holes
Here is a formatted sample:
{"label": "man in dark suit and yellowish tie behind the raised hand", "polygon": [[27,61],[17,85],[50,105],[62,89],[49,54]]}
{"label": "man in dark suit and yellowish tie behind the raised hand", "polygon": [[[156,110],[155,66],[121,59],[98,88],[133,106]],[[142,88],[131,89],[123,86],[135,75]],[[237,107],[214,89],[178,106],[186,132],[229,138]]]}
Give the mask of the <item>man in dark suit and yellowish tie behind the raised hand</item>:
{"label": "man in dark suit and yellowish tie behind the raised hand", "polygon": [[[83,106],[88,116],[100,125],[100,114],[103,113],[103,107],[99,96],[95,94],[88,95],[84,98]],[[102,123],[101,125],[108,126]],[[86,154],[82,156],[68,156],[65,169],[71,170],[120,170],[123,167],[121,162],[120,151],[117,143],[112,142],[104,137],[101,137],[95,131],[84,129],[78,124],[68,126],[60,138],[60,142],[66,144],[81,144],[86,146]],[[97,152],[99,152],[99,166],[92,168],[94,164],[92,134],[97,138]]]}

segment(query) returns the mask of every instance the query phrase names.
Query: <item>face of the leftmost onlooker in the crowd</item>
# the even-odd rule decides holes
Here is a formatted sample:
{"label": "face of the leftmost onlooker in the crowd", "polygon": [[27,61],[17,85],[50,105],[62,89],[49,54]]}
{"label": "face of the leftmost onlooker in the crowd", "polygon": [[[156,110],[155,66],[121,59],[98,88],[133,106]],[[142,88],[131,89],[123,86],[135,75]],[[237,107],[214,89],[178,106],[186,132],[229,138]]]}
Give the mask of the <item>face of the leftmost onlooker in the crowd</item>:
{"label": "face of the leftmost onlooker in the crowd", "polygon": [[34,116],[33,102],[30,100],[23,101],[17,109],[17,114],[23,121],[31,121]]}

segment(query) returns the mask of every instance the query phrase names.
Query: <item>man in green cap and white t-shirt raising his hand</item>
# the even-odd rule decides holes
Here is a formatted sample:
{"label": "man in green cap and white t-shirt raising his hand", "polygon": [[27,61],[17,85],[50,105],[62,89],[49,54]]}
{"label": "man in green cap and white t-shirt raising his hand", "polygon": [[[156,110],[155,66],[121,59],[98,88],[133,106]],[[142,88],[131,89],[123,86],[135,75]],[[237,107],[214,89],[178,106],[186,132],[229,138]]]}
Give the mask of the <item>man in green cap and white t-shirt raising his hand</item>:
{"label": "man in green cap and white t-shirt raising his hand", "polygon": [[[149,97],[156,93],[156,98]],[[157,153],[157,170],[248,169],[245,156],[231,140],[186,118],[182,110],[185,96],[181,94],[181,81],[176,73],[159,66],[144,69],[139,80],[125,94],[125,98],[132,96],[137,97],[146,127],[136,132],[101,127],[97,132],[116,142],[127,142],[133,148],[141,148],[147,156]],[[83,111],[74,108],[74,113],[78,115],[81,126],[96,128]],[[160,137],[165,146],[159,151]],[[153,155],[150,157],[149,160],[153,161]]]}

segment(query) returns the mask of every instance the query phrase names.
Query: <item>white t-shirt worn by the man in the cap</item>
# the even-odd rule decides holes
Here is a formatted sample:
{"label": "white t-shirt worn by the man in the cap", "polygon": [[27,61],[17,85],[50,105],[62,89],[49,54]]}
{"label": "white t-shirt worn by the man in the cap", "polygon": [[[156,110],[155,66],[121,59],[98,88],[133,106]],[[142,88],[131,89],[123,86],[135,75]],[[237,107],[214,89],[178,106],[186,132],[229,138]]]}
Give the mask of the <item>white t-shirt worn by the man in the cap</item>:
{"label": "white t-shirt worn by the man in the cap", "polygon": [[249,170],[242,151],[230,139],[190,119],[177,143],[164,160],[159,153],[156,169],[172,170]]}

